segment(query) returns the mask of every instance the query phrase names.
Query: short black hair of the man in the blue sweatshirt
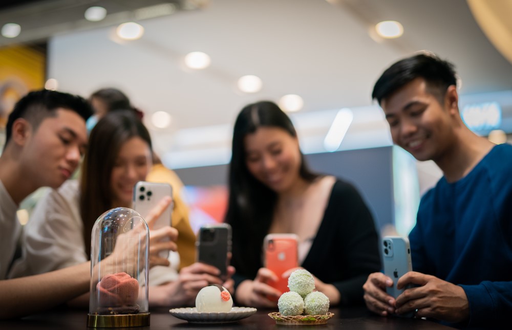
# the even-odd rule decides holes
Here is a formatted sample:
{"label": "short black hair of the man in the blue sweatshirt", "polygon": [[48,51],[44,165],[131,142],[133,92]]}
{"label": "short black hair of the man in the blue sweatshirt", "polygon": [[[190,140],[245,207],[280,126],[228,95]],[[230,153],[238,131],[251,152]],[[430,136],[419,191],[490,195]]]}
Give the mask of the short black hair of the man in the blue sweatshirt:
{"label": "short black hair of the man in the blue sweatshirt", "polygon": [[442,104],[449,86],[457,86],[457,76],[452,63],[441,60],[433,53],[420,54],[404,58],[384,71],[373,87],[372,98],[379,104],[401,87],[416,78],[426,81],[429,92]]}

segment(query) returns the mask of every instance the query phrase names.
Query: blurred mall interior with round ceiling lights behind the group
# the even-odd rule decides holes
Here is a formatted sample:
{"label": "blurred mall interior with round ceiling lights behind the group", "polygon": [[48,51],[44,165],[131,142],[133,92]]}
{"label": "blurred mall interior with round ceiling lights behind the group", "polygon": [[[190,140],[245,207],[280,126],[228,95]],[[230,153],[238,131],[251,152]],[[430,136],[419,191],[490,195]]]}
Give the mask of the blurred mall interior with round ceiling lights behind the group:
{"label": "blurred mall interior with round ceiling lights behind the group", "polygon": [[[501,0],[3,1],[0,145],[28,91],[87,98],[116,87],[186,185],[197,229],[223,219],[236,115],[272,100],[311,167],[353,183],[381,232],[407,235],[442,174],[392,145],[373,84],[397,59],[432,51],[456,65],[466,125],[511,142],[511,15]],[[39,193],[18,213],[24,222]]]}

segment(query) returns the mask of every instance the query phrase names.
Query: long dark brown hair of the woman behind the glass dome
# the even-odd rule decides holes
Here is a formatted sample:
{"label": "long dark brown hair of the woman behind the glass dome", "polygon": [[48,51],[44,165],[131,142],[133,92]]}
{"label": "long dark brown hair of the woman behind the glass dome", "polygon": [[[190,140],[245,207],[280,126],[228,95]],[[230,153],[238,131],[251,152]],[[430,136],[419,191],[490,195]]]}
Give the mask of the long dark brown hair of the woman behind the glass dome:
{"label": "long dark brown hair of the woman behind the glass dome", "polygon": [[80,178],[80,215],[87,255],[97,217],[113,207],[110,178],[117,155],[123,143],[133,137],[141,138],[151,149],[150,134],[130,110],[106,114],[91,131]]}

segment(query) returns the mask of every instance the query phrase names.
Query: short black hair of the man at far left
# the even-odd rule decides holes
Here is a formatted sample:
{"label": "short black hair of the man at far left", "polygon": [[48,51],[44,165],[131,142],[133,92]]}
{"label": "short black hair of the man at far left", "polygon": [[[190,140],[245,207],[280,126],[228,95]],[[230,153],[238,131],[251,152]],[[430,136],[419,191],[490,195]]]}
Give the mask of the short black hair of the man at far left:
{"label": "short black hair of the man at far left", "polygon": [[12,125],[16,119],[24,118],[35,131],[45,118],[57,116],[58,108],[74,111],[83,120],[87,120],[92,115],[91,106],[80,96],[49,90],[30,92],[14,105],[14,109],[9,115],[5,146],[11,138]]}

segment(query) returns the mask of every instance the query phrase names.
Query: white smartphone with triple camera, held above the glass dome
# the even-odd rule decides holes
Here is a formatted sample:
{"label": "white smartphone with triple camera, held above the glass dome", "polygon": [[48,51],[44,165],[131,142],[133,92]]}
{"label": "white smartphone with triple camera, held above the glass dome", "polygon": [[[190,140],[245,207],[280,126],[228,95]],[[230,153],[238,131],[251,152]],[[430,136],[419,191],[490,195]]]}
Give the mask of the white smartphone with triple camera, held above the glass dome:
{"label": "white smartphone with triple camera, held above the glass dome", "polygon": [[[169,184],[139,181],[135,184],[133,189],[133,209],[145,218],[165,196],[173,196],[173,187]],[[156,219],[153,229],[172,226],[172,213],[173,203],[170,203],[162,214],[160,214],[158,219]],[[169,251],[160,252],[160,256],[167,258],[169,256]]]}

